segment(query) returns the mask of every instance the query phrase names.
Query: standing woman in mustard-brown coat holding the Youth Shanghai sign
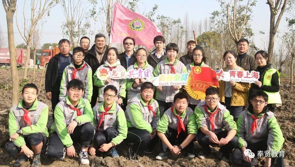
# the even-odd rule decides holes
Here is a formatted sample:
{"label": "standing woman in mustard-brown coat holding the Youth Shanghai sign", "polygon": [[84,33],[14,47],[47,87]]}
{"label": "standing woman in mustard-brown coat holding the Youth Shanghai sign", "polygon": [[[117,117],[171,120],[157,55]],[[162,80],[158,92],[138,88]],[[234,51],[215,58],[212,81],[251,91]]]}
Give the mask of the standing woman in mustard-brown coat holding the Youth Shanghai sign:
{"label": "standing woman in mustard-brown coat holding the Youth Shanghai sign", "polygon": [[[237,55],[231,50],[223,54],[223,60],[226,67],[223,71],[241,70],[245,71],[242,67],[236,64]],[[217,76],[216,79],[219,79]],[[220,103],[224,104],[229,110],[230,114],[234,117],[234,121],[238,120],[239,115],[243,112],[243,108],[247,104],[247,91],[250,89],[250,83],[235,82],[235,81],[219,81],[219,96]]]}

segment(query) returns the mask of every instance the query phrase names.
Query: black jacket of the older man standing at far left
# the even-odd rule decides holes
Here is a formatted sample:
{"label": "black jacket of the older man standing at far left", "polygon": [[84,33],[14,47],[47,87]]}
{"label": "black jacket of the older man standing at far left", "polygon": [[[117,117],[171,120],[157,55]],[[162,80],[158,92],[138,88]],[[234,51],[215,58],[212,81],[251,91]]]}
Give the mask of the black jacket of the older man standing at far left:
{"label": "black jacket of the older man standing at far left", "polygon": [[[48,62],[46,74],[45,74],[46,93],[52,92],[52,91],[59,91],[59,88],[61,86],[61,81],[59,80],[59,77],[58,77],[60,55],[61,53],[56,54]],[[71,58],[73,58],[71,53],[69,53],[69,55]]]}

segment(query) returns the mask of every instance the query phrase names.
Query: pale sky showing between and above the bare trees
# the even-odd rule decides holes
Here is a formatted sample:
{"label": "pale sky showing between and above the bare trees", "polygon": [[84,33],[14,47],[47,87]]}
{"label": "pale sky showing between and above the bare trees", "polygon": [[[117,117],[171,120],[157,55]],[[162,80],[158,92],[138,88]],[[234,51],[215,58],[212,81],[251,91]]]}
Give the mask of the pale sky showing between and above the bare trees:
{"label": "pale sky showing between and above the bare trees", "polygon": [[[245,1],[245,0],[244,0]],[[29,2],[29,1],[27,1]],[[254,32],[254,36],[251,40],[254,41],[256,47],[260,49],[264,49],[265,45],[263,44],[265,40],[268,41],[269,36],[269,25],[270,25],[270,9],[269,5],[265,3],[266,0],[258,0],[256,6],[252,8],[253,17],[251,21],[251,27]],[[24,0],[17,1],[17,20],[19,21],[19,25],[23,24],[23,16],[22,10],[24,6]],[[246,2],[243,2],[244,4]],[[220,4],[216,0],[141,0],[138,3],[140,11],[150,11],[154,4],[158,5],[158,11],[156,15],[165,15],[170,16],[171,18],[177,19],[180,18],[183,22],[184,15],[187,12],[189,21],[199,22],[200,20],[204,20],[204,18],[209,18],[211,16],[211,12],[215,10],[221,10]],[[1,5],[2,6],[2,5]],[[97,8],[101,7],[100,1],[98,1]],[[30,4],[27,3],[24,6],[25,11],[30,12]],[[226,9],[223,9],[226,10]],[[7,23],[6,23],[6,13],[3,7],[0,7],[0,25],[4,36],[6,37],[5,41],[7,41]],[[16,15],[16,14],[15,14]],[[25,13],[25,16],[29,18],[30,13]],[[284,14],[283,18],[279,24],[279,32],[278,35],[282,35],[284,32],[287,32],[287,22],[286,22],[287,13]],[[21,22],[22,21],[22,22]],[[57,5],[52,8],[50,11],[50,16],[45,18],[45,23],[42,31],[42,39],[40,41],[40,46],[43,43],[58,43],[60,39],[64,36],[62,35],[61,23],[65,21],[65,17],[61,10],[61,6]],[[24,40],[21,38],[20,33],[16,27],[16,21],[14,19],[14,32],[15,32],[15,43],[20,44],[24,43]],[[100,22],[95,23],[93,25],[93,29],[99,33],[99,29],[101,28]],[[265,32],[265,35],[259,34],[259,31]],[[2,34],[2,35],[3,35]],[[91,38],[92,39],[92,38]],[[278,44],[280,41],[279,38],[276,38],[275,50],[277,50]],[[8,43],[7,43],[8,46]],[[6,47],[7,47],[6,46]]]}

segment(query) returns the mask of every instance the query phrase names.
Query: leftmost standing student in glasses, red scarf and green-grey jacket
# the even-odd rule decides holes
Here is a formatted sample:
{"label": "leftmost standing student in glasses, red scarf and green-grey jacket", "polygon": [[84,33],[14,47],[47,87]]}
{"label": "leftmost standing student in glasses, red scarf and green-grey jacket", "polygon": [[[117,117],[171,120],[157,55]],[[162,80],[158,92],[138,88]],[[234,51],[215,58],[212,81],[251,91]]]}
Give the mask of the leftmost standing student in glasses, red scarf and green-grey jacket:
{"label": "leftmost standing student in glasses, red scarf and green-grey jacket", "polygon": [[92,70],[91,67],[84,62],[84,49],[76,47],[73,49],[74,61],[66,66],[62,78],[59,98],[66,98],[66,86],[72,79],[79,79],[84,84],[84,99],[91,101],[92,96]]}

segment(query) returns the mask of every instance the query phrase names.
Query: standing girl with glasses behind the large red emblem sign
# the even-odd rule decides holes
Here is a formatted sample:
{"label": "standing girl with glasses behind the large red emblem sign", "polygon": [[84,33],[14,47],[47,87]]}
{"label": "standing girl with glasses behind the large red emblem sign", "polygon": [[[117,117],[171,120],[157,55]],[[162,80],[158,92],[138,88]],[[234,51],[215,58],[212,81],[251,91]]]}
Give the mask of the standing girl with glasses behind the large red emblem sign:
{"label": "standing girl with glasses behind the large red emblem sign", "polygon": [[[186,65],[186,69],[188,70],[188,73],[192,71],[192,67],[199,66],[199,67],[209,67],[206,63],[206,57],[205,57],[205,51],[202,47],[197,46],[193,49],[193,63],[190,63]],[[185,92],[187,94],[187,92]],[[187,94],[188,95],[188,94]],[[195,109],[196,106],[201,102],[202,100],[196,100],[188,95],[188,107],[191,109]]]}

